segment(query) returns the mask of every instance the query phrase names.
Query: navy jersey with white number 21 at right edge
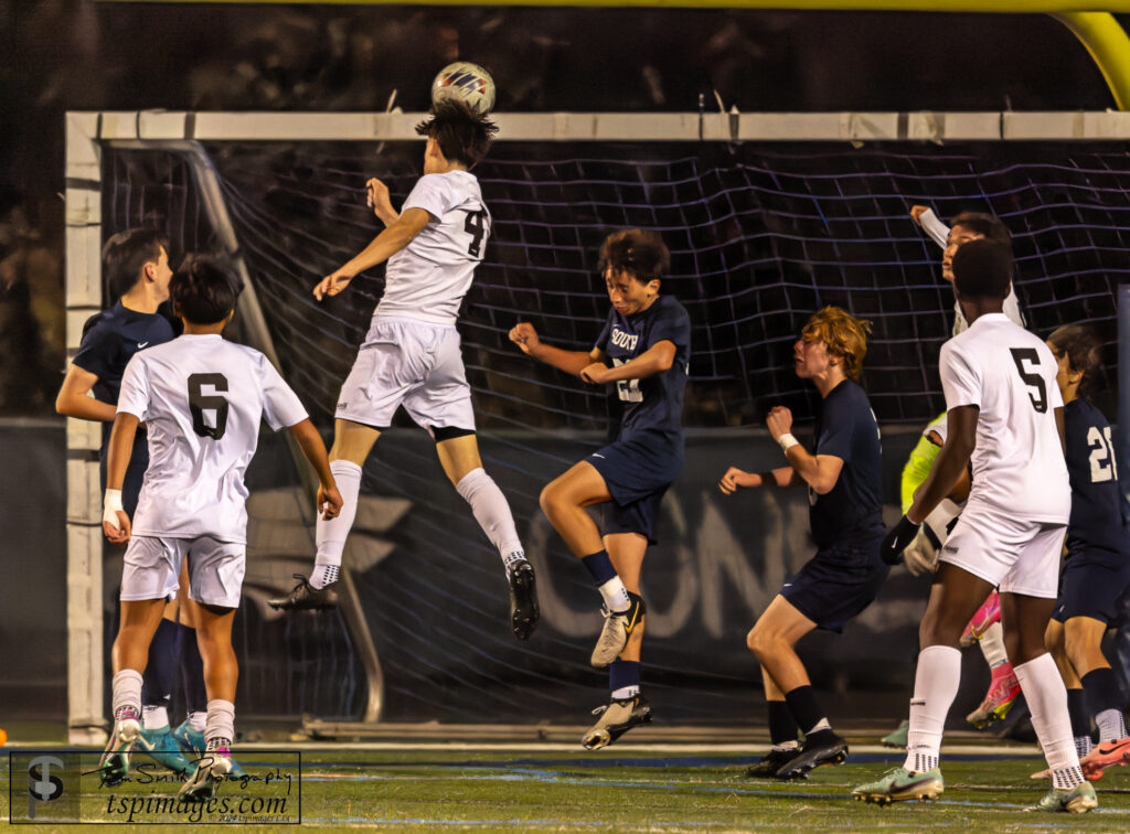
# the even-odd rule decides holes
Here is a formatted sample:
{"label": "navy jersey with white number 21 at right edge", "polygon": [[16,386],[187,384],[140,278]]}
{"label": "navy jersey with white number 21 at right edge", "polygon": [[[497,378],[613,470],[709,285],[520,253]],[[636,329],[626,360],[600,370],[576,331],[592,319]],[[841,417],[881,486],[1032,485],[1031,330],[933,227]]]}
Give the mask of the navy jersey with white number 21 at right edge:
{"label": "navy jersey with white number 21 at right edge", "polygon": [[1130,558],[1130,527],[1123,514],[1110,424],[1089,402],[1072,400],[1063,407],[1063,436],[1071,480],[1068,558],[1084,550],[1088,558]]}

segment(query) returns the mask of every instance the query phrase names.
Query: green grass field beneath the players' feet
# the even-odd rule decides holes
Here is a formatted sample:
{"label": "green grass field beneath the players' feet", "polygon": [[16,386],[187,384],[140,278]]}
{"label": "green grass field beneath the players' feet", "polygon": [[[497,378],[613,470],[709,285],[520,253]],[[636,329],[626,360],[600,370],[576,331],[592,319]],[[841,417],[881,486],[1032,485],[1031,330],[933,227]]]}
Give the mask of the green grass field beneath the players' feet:
{"label": "green grass field beneath the players' feet", "polygon": [[[1036,815],[1024,807],[1046,790],[1046,783],[1028,779],[1043,766],[1037,757],[973,757],[955,748],[944,758],[946,792],[941,799],[880,808],[854,802],[847,794],[858,782],[899,764],[902,756],[894,750],[875,753],[871,750],[876,748],[862,747],[846,765],[819,768],[808,781],[780,783],[745,779],[745,765],[756,758],[749,754],[729,749],[712,753],[690,746],[673,753],[671,749],[658,752],[651,746],[632,745],[599,753],[557,745],[550,749],[515,746],[505,750],[470,745],[306,749],[302,754],[303,827],[477,832],[1130,831],[1130,767],[1114,768],[1097,783],[1097,811],[1085,816]],[[284,758],[249,750],[244,762],[254,774]],[[17,807],[25,808],[26,775],[17,772],[10,785],[2,787],[0,796],[6,806],[9,787]],[[134,784],[118,793],[144,796],[156,791],[168,796],[175,787]],[[225,784],[220,796],[238,796],[240,791],[237,785]],[[97,793],[96,784],[84,788],[84,799],[89,800],[84,802],[86,822],[125,818],[107,816],[103,811],[105,797],[94,796]],[[7,813],[6,807],[5,816]],[[167,817],[164,820],[172,822]],[[50,827],[27,826],[32,831]],[[232,829],[216,824],[194,827]],[[275,828],[255,826],[258,831]],[[294,829],[279,829],[286,828]]]}

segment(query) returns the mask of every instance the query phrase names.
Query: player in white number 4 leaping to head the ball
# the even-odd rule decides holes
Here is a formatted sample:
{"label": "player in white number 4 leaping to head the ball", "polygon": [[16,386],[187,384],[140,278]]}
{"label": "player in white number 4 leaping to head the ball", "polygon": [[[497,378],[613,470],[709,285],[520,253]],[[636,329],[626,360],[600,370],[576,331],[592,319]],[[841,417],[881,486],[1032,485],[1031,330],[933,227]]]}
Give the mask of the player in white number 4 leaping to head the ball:
{"label": "player in white number 4 leaping to head the ball", "polygon": [[403,406],[435,440],[443,471],[502,557],[514,636],[527,640],[537,625],[533,566],[518,538],[510,504],[483,469],[455,329],[492,225],[469,168],[486,156],[497,130],[461,103],[437,104],[432,118],[416,128],[427,137],[424,176],[400,214],[389,201],[388,188],[370,180],[370,205],[385,229],[314,287],[314,297],[322,301],[344,292],[358,272],[389,262],[384,295],[338,399],[330,466],[345,505],[337,519],[318,522],[313,575],[308,582],[299,576],[287,597],[271,600],[276,608],[332,605],[336,593],[329,587],[337,581],[357,513],[362,467]]}

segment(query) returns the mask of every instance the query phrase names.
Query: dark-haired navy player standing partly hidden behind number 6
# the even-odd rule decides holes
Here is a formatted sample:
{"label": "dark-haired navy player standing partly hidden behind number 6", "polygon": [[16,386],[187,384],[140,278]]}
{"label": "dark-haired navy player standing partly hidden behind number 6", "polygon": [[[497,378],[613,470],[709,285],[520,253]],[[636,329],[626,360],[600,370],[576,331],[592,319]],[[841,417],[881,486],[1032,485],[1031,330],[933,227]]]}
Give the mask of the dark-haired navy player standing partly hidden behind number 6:
{"label": "dark-haired navy player standing partly hidden behind number 6", "polygon": [[[122,374],[139,350],[171,341],[175,333],[169,320],[158,309],[168,301],[168,244],[153,228],[132,228],[113,235],[102,251],[103,272],[114,305],[87,320],[78,353],[63,379],[55,410],[68,417],[104,424],[101,450],[101,479],[106,484],[110,425],[114,420]],[[93,392],[94,397],[88,397]],[[130,516],[137,510],[138,493],[149,466],[145,428],[133,441],[130,464],[122,484],[122,505]],[[183,634],[179,631],[183,629]],[[177,645],[182,649],[179,650]],[[165,618],[150,645],[145,676],[145,736],[155,758],[174,771],[188,772],[191,765],[180,754],[168,727],[168,704],[181,659],[185,668],[185,690],[190,709],[205,705],[203,667],[197,649],[195,629],[177,623],[177,603],[169,602]],[[202,712],[200,713],[203,714]],[[188,731],[177,728],[181,735]],[[203,729],[201,727],[201,729]]]}

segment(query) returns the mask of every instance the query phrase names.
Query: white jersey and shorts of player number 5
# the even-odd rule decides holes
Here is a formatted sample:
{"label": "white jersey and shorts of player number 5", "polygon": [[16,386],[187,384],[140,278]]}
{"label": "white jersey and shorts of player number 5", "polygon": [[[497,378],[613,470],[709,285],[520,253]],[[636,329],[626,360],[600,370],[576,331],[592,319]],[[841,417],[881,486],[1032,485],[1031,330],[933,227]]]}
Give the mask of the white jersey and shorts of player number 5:
{"label": "white jersey and shorts of player number 5", "polygon": [[1003,313],[989,313],[942,346],[939,370],[947,409],[980,409],[973,486],[941,561],[1001,592],[1054,599],[1071,507],[1055,357]]}

